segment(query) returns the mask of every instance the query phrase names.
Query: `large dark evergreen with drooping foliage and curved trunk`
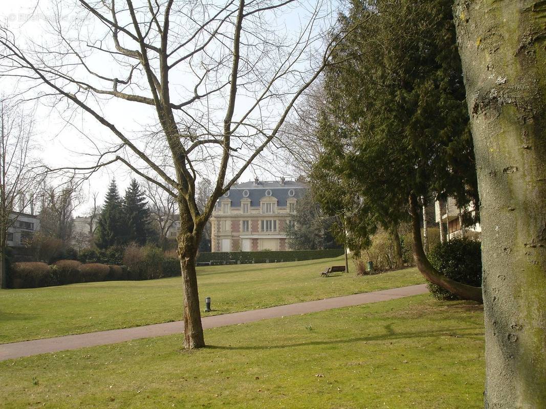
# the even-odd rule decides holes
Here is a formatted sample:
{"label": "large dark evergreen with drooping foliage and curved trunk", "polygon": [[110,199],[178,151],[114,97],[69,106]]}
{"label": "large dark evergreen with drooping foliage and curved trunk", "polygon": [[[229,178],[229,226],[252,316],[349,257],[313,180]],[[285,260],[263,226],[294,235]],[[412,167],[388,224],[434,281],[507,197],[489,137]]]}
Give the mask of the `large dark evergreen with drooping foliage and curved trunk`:
{"label": "large dark evergreen with drooping foliage and curved trunk", "polygon": [[394,233],[409,214],[419,270],[461,298],[480,300],[480,288],[453,282],[431,266],[420,238],[418,197],[454,196],[461,208],[477,203],[451,5],[354,0],[341,17],[342,32],[358,28],[339,47],[341,63],[325,73],[328,110],[316,174],[326,183],[317,191],[321,201],[336,202],[328,181],[339,182],[343,202],[352,202],[347,224],[364,244],[378,225]]}

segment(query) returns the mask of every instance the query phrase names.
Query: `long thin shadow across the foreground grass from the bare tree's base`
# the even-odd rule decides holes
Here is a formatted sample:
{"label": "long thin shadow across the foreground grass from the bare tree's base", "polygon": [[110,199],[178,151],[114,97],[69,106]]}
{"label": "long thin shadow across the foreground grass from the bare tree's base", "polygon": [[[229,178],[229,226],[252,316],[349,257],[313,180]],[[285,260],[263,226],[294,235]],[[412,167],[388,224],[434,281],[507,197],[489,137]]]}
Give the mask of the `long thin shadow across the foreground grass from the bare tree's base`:
{"label": "long thin shadow across the foreground grass from the bare tree's base", "polygon": [[222,346],[222,345],[207,345],[206,348],[213,350],[241,350],[241,351],[253,351],[253,350],[270,350],[270,349],[283,349],[305,346],[323,346],[323,345],[335,345],[335,344],[351,344],[353,342],[369,342],[369,341],[393,341],[393,340],[405,340],[413,338],[440,338],[441,336],[453,336],[455,338],[471,338],[483,336],[481,332],[465,333],[464,335],[457,332],[464,330],[476,329],[474,327],[454,328],[450,330],[437,330],[437,331],[422,331],[422,332],[400,332],[396,333],[392,328],[392,324],[383,326],[387,333],[377,335],[359,336],[356,338],[342,338],[324,341],[312,341],[312,342],[297,342],[294,344],[280,344],[280,345],[241,345],[241,346]]}

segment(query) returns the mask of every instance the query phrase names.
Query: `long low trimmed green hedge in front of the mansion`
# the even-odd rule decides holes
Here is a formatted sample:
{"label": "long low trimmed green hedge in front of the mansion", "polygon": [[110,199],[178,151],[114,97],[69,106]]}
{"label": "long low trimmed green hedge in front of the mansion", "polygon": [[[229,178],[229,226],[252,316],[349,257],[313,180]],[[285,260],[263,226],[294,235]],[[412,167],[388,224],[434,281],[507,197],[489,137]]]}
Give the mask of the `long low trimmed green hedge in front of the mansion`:
{"label": "long low trimmed green hedge in front of the mansion", "polygon": [[281,261],[316,260],[343,255],[343,249],[327,250],[288,250],[288,251],[230,251],[202,252],[197,255],[198,263],[215,264],[250,264],[274,263]]}

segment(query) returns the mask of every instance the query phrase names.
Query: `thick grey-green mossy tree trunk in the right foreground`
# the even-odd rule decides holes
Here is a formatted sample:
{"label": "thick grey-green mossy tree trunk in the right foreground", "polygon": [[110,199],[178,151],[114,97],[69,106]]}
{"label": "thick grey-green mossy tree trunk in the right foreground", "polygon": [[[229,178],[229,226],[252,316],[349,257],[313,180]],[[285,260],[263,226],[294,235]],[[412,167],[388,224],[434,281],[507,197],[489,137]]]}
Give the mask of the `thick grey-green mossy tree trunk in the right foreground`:
{"label": "thick grey-green mossy tree trunk in the right foreground", "polygon": [[482,224],[485,407],[546,408],[546,2],[460,0]]}

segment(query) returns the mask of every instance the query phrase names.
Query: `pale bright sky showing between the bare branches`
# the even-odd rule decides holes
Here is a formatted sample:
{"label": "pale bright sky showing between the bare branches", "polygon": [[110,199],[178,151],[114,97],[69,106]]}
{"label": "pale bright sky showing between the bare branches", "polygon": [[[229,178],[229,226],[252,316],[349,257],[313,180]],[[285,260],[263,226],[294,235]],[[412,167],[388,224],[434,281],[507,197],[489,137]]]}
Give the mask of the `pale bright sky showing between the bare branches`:
{"label": "pale bright sky showing between the bare branches", "polygon": [[[55,8],[59,7],[62,24],[72,30],[72,32],[68,31],[68,33],[73,34],[74,38],[78,35],[93,39],[100,38],[103,35],[101,31],[102,26],[97,25],[94,19],[78,20],[81,19],[81,14],[74,12],[71,3],[72,0],[19,0],[18,2],[4,3],[0,9],[0,21],[16,34],[19,45],[28,46],[34,43],[43,45],[48,50],[55,50],[56,43],[54,37],[48,33],[48,24],[55,15]],[[116,2],[116,4],[119,4],[119,2]],[[301,1],[298,7],[291,7],[287,9],[286,13],[271,17],[269,21],[265,22],[266,26],[271,30],[269,36],[271,38],[276,38],[277,36],[281,38],[281,36],[284,36],[284,39],[289,43],[291,39],[294,39],[294,35],[299,32],[298,28],[302,27],[307,21],[310,9],[316,4],[318,2]],[[319,33],[319,31],[324,30],[325,27],[331,24],[331,21],[333,21],[332,16],[335,15],[335,7],[336,2],[327,1],[324,3],[324,11],[321,9],[324,17],[324,20],[321,20],[322,26],[317,26],[313,34]],[[74,30],[79,31],[79,33]],[[248,35],[247,40],[252,41],[252,36]],[[312,47],[314,48],[311,50],[319,51],[320,45],[318,41],[312,43]],[[262,58],[263,64],[268,63],[268,61],[274,64],[274,56],[264,56]],[[307,68],[306,64],[313,63],[309,62],[312,58],[312,56],[303,55],[299,63],[294,65],[294,67],[305,69]],[[92,64],[93,70],[100,71],[102,75],[118,75],[118,73],[113,72],[117,66],[112,64],[112,61],[109,61],[109,59],[97,57],[93,54],[88,61]],[[110,68],[110,64],[114,68]],[[263,74],[265,78],[270,73],[267,71],[268,67],[266,65],[264,67]],[[183,86],[183,84],[187,82],[187,78],[190,75],[188,67],[181,66],[179,72],[171,76],[171,89],[174,92],[180,92],[180,95],[184,94],[186,91],[185,88],[188,87]],[[239,91],[240,97],[236,105],[235,115],[246,111],[252,104],[253,99],[251,97],[254,95],[254,90],[259,88],[260,80],[259,77],[253,77],[252,81],[254,83],[248,86],[250,91]],[[279,89],[290,89],[292,83],[298,83],[297,80],[298,78],[295,75],[286,77],[286,81],[280,82],[278,87]],[[5,81],[3,85],[3,88],[6,89]],[[13,89],[14,91],[18,91],[26,85],[24,82],[22,85],[21,83],[17,85],[13,84]],[[274,119],[277,119],[283,110],[283,102],[282,98],[272,98],[270,102],[262,106],[259,114],[253,114],[254,117],[252,119],[254,123],[261,121],[262,126],[264,124],[266,128],[271,126],[272,123],[276,122]],[[113,142],[118,142],[108,129],[105,129],[103,125],[100,125],[89,115],[82,113],[81,110],[67,110],[67,105],[63,103],[57,104],[55,107],[48,105],[50,105],[50,102],[47,99],[33,104],[36,109],[35,134],[40,146],[37,155],[50,167],[90,164],[95,160],[92,155],[102,152],[105,147],[111,146]],[[201,107],[203,106],[201,105]],[[222,98],[207,100],[206,108],[210,110],[209,112],[212,112],[209,114],[209,121],[221,124],[221,119],[224,115],[224,106],[225,101]],[[135,135],[135,138],[140,138],[143,129],[155,127],[157,122],[153,109],[150,106],[143,106],[138,103],[111,99],[101,101],[100,104],[93,107],[102,109],[104,116],[112,123],[115,123],[116,127],[123,130],[127,135]],[[218,109],[218,114],[214,111],[215,107]],[[142,140],[138,141],[138,143],[139,147],[145,151],[150,146],[150,141],[145,142]],[[242,146],[241,152],[244,152]],[[293,173],[294,171],[291,169],[289,161],[287,162],[284,159],[285,157],[286,155],[281,155],[275,149],[268,149],[263,157],[259,158],[256,166],[251,166],[246,170],[239,181],[245,182],[251,180],[254,176],[258,176],[262,180],[277,179],[281,176],[288,179],[294,178],[297,175]],[[204,163],[201,166],[200,172],[203,176],[213,179],[215,177],[215,166],[210,162]],[[230,171],[228,170],[229,173]],[[100,202],[112,178],[116,179],[118,187],[123,191],[132,177],[134,177],[134,174],[126,166],[123,164],[113,164],[95,173],[89,179],[88,183],[82,186],[82,193],[89,199],[92,193],[98,192]],[[90,202],[88,200],[84,201],[76,209],[76,215],[85,213],[89,206]]]}

